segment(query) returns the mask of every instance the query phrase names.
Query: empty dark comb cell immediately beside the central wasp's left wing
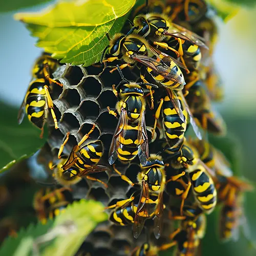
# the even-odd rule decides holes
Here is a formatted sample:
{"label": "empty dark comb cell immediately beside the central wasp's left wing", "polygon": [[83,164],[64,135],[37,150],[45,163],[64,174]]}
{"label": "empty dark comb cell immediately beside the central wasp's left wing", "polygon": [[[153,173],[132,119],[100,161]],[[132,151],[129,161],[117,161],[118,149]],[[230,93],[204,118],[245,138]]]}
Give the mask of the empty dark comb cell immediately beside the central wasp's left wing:
{"label": "empty dark comb cell immediately beside the central wasp's left wing", "polygon": [[113,116],[110,115],[108,111],[102,111],[97,120],[96,123],[99,125],[100,127],[100,131],[103,132],[114,132],[116,129],[116,125],[117,125],[117,121],[118,119]]}

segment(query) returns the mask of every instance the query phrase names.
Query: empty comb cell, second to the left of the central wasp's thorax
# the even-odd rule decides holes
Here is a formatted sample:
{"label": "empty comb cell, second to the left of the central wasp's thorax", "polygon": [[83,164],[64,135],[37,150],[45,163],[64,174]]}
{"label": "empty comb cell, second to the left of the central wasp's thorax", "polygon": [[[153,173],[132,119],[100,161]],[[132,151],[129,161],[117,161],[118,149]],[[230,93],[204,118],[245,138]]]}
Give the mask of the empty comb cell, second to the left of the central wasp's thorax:
{"label": "empty comb cell, second to the left of the central wasp's thorax", "polygon": [[81,113],[84,119],[96,119],[100,112],[100,106],[96,100],[83,100],[77,111]]}

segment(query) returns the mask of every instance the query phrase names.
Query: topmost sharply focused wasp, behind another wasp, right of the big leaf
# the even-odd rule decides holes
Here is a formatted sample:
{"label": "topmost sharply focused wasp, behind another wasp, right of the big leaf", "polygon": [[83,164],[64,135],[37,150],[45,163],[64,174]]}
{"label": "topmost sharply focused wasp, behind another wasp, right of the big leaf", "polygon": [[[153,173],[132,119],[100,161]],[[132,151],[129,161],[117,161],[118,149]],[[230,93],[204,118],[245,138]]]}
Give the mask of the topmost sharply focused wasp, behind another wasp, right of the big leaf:
{"label": "topmost sharply focused wasp, behind another wasp, right of the big leaf", "polygon": [[175,52],[180,57],[187,73],[197,70],[201,60],[200,47],[205,47],[203,38],[180,25],[168,22],[163,14],[148,13],[134,18],[134,28],[140,36],[154,45]]}

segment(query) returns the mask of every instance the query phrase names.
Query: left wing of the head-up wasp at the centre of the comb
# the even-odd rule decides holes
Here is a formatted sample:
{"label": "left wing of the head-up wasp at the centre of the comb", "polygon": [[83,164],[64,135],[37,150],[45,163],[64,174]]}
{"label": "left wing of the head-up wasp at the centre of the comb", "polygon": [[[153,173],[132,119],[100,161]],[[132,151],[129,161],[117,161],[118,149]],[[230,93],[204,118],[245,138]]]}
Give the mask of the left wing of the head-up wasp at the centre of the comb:
{"label": "left wing of the head-up wasp at the centre of the comb", "polygon": [[116,126],[115,133],[113,135],[110,151],[109,151],[109,163],[112,165],[117,159],[117,149],[120,147],[120,141],[118,137],[124,137],[127,127],[127,112],[124,109],[121,109],[120,117]]}

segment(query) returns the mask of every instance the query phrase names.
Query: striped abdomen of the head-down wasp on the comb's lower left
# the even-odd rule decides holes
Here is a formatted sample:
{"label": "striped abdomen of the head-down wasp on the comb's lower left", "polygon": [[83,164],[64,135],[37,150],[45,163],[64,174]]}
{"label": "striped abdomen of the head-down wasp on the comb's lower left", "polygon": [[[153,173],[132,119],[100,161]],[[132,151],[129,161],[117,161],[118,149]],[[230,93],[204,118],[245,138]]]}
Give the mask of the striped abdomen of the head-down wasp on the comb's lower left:
{"label": "striped abdomen of the head-down wasp on the comb's lower left", "polygon": [[84,169],[85,167],[90,167],[99,162],[103,155],[103,145],[100,140],[90,142],[80,148],[78,151],[79,158],[76,165],[79,168]]}

